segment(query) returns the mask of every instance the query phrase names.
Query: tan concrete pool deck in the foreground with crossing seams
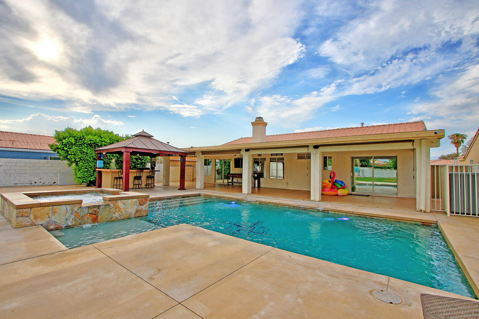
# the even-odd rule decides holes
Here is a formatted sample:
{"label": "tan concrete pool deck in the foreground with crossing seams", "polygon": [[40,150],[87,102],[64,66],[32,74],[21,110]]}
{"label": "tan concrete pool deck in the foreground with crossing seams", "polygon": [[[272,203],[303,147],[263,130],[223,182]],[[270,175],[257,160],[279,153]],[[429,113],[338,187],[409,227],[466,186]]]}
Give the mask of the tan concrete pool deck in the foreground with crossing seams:
{"label": "tan concrete pool deck in the foreground with crossing seams", "polygon": [[[45,231],[0,237],[33,229]],[[0,255],[2,318],[422,318],[421,293],[468,299],[186,224],[41,246],[31,258]]]}

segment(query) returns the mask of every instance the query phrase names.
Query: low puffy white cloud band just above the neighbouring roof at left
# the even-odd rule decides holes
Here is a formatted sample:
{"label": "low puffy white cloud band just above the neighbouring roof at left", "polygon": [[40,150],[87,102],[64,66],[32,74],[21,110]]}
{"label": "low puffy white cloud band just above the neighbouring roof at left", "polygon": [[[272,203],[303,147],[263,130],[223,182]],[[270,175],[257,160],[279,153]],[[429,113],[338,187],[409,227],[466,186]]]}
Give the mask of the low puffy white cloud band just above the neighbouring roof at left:
{"label": "low puffy white cloud band just above the neighbouring roof at left", "polygon": [[9,132],[23,132],[33,134],[53,135],[55,130],[66,127],[80,129],[86,126],[111,129],[123,125],[121,121],[104,120],[100,115],[93,115],[91,119],[77,119],[75,116],[49,116],[43,113],[32,114],[20,120],[0,120],[0,130]]}

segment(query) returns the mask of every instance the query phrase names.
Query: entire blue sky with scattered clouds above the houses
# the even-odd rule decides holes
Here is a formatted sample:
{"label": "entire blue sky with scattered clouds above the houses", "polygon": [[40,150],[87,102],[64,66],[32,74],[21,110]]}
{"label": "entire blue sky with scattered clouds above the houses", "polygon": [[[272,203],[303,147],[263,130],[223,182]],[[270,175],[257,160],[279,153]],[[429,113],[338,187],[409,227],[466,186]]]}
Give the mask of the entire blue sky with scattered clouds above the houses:
{"label": "entire blue sky with scattered clouds above the houses", "polygon": [[479,126],[477,0],[0,0],[0,130],[177,147],[406,121]]}

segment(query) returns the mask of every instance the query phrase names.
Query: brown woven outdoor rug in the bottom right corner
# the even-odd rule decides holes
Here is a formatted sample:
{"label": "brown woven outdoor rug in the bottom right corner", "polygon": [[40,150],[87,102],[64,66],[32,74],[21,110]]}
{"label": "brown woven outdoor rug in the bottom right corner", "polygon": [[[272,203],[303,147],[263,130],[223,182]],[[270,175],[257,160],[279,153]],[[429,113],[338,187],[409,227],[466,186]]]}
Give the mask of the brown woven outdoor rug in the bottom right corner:
{"label": "brown woven outdoor rug in the bottom right corner", "polygon": [[424,319],[479,319],[479,302],[421,294]]}

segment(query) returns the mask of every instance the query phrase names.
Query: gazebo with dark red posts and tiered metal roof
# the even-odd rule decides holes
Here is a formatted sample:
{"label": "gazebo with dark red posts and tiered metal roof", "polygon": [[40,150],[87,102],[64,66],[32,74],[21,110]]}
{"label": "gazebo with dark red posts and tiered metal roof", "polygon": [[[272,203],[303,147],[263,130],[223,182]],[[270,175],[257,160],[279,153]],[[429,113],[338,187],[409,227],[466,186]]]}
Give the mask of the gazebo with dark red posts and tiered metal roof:
{"label": "gazebo with dark red posts and tiered metal roof", "polygon": [[[186,170],[186,155],[188,152],[182,149],[171,146],[167,143],[160,142],[153,138],[153,135],[148,134],[145,131],[138,132],[133,135],[133,138],[121,141],[118,143],[106,145],[95,149],[97,154],[97,160],[101,160],[101,154],[123,154],[123,191],[129,190],[130,185],[130,154],[150,156],[151,158],[157,156],[180,156],[180,188],[179,190],[185,190],[184,179]],[[170,161],[163,161],[163,185],[169,185],[170,174]],[[166,178],[165,178],[166,177]],[[166,183],[165,183],[166,179]],[[96,171],[96,187],[102,187],[102,171]]]}

